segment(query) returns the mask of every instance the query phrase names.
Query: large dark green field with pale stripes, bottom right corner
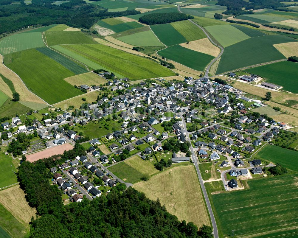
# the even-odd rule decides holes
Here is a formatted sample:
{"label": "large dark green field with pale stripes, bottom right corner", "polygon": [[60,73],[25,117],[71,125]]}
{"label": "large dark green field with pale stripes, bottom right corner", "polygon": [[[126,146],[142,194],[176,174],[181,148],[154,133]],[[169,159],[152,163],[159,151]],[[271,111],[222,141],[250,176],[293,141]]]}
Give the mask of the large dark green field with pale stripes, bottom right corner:
{"label": "large dark green field with pale stripes, bottom right corner", "polygon": [[[297,175],[247,181],[248,189],[209,195],[220,237],[257,236],[296,226]],[[237,226],[235,226],[237,224]],[[271,237],[271,236],[270,236]]]}

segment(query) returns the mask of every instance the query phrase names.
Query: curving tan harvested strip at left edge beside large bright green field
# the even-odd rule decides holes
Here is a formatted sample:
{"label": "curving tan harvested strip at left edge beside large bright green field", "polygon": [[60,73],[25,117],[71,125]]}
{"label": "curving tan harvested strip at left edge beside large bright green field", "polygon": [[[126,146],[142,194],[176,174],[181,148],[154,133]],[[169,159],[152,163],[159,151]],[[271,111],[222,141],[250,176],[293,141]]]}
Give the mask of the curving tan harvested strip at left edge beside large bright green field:
{"label": "curving tan harvested strip at left edge beside large bright green field", "polygon": [[18,77],[17,74],[15,74],[15,72],[11,71],[3,65],[2,55],[0,55],[0,74],[2,74],[4,77],[7,77],[9,80],[13,82],[15,91],[17,91],[20,94],[21,101],[38,102],[45,104],[45,102],[42,99],[37,97],[35,94],[33,94],[26,88],[23,81]]}

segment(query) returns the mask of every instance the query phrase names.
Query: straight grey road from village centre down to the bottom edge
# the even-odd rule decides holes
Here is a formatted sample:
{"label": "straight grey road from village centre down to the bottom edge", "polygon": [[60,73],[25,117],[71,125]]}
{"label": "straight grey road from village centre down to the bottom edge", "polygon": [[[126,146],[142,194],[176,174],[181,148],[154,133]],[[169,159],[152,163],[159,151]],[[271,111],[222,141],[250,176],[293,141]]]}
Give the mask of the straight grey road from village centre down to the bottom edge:
{"label": "straight grey road from village centre down to the bottom edge", "polygon": [[190,137],[189,137],[188,131],[186,130],[186,123],[185,123],[184,117],[182,115],[181,115],[181,118],[182,118],[182,122],[183,122],[183,127],[184,127],[185,132],[186,132],[187,140],[190,142],[190,151],[191,151],[191,155],[192,155],[192,159],[193,159],[193,164],[195,165],[195,169],[197,170],[200,185],[201,185],[203,195],[204,195],[204,198],[205,198],[205,201],[206,201],[206,204],[207,204],[207,208],[208,208],[208,211],[209,211],[209,214],[210,214],[211,223],[212,223],[212,226],[213,226],[214,238],[218,238],[217,225],[216,225],[215,217],[214,217],[214,214],[213,214],[213,211],[212,211],[212,208],[211,208],[209,197],[208,197],[207,191],[206,191],[205,186],[204,186],[204,181],[202,179],[202,175],[201,175],[200,170],[199,170],[198,158],[195,154],[195,151],[193,150],[193,146],[191,145]]}

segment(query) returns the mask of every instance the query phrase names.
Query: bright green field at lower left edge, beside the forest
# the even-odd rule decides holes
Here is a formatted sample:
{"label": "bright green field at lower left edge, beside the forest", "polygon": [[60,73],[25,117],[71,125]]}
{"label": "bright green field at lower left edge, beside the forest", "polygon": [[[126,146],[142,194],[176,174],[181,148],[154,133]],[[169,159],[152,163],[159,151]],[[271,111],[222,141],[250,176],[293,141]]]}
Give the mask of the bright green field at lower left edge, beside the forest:
{"label": "bright green field at lower left edge, beside the forest", "polygon": [[17,172],[17,170],[12,162],[13,159],[11,155],[5,155],[7,147],[1,146],[0,148],[0,188],[2,188],[17,182],[17,177],[14,173]]}

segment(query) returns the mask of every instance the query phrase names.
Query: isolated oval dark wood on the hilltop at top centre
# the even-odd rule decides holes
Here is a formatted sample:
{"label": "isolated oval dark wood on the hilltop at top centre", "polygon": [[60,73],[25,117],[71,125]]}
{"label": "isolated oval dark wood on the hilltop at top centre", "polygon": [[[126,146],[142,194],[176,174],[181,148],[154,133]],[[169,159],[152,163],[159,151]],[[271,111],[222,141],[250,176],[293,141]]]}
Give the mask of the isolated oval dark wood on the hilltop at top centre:
{"label": "isolated oval dark wood on the hilltop at top centre", "polygon": [[173,21],[187,20],[188,17],[184,13],[151,13],[140,17],[139,22],[147,25],[164,24]]}

